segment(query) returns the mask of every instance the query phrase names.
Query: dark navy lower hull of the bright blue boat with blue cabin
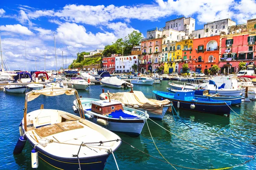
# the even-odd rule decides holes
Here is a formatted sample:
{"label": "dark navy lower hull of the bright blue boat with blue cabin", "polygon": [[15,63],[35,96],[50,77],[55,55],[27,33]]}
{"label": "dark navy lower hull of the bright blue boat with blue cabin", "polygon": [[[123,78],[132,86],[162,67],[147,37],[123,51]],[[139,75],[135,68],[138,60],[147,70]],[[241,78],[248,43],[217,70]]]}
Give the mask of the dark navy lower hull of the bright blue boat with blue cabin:
{"label": "dark navy lower hull of the bright blue boat with blue cabin", "polygon": [[[218,104],[215,105],[213,103],[207,103],[207,104],[203,104],[203,103],[199,103],[199,102],[190,102],[190,101],[181,101],[178,99],[170,99],[170,98],[166,98],[164,96],[160,96],[158,94],[155,94],[157,100],[163,100],[163,99],[169,99],[170,101],[173,102],[173,106],[177,108],[177,102],[180,102],[180,109],[186,109],[186,110],[190,110],[190,111],[198,111],[198,112],[204,112],[204,113],[211,113],[211,114],[218,114],[218,115],[230,115],[230,108],[228,105],[226,105],[225,103],[223,104]],[[194,104],[195,108],[191,109],[190,105]]]}

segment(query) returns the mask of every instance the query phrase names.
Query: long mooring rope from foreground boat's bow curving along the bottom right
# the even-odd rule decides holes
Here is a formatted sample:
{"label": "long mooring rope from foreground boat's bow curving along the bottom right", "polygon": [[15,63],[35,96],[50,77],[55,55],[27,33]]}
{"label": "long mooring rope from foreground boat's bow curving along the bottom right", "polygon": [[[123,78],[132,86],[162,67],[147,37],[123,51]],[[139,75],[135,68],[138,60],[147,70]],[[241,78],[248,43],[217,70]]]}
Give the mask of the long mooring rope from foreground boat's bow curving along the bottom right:
{"label": "long mooring rope from foreground boat's bow curving along the bottom right", "polygon": [[[144,153],[145,155],[150,156],[151,158],[157,159],[158,161],[162,161],[162,162],[164,162],[164,163],[166,163],[166,164],[171,164],[171,163],[168,163],[168,162],[163,161],[163,160],[161,160],[161,159],[158,159],[158,158],[156,158],[156,157],[154,157],[154,156],[151,156],[151,155],[149,155],[148,153],[145,153],[145,152],[143,152],[142,150],[139,150],[138,148],[132,146],[131,144],[129,144],[129,143],[123,141],[123,140],[121,140],[121,141],[124,142],[125,144],[130,145],[132,148],[134,148],[134,149],[140,151],[141,153]],[[251,159],[249,159],[249,160],[247,160],[247,161],[245,161],[245,162],[243,162],[243,163],[233,165],[233,166],[231,166],[231,167],[224,167],[224,168],[218,168],[218,169],[197,169],[197,168],[191,168],[191,167],[183,167],[183,166],[176,165],[176,164],[172,164],[172,165],[173,165],[173,166],[176,166],[176,167],[182,167],[182,168],[190,169],[190,170],[227,170],[227,169],[230,169],[230,168],[233,168],[233,167],[237,167],[237,166],[242,165],[242,164],[247,164],[247,163],[249,163],[250,161],[251,161]]]}

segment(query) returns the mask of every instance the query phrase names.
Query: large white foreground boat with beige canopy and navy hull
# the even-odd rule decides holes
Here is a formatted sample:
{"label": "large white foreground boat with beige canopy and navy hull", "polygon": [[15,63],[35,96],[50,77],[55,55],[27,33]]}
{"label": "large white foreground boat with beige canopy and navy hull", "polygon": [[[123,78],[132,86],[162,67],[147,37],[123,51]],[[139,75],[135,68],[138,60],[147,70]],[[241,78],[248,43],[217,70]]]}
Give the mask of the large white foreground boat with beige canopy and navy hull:
{"label": "large white foreground boat with beige canopy and navy hull", "polygon": [[20,138],[23,140],[17,142],[14,154],[21,153],[28,140],[34,148],[33,168],[38,167],[39,157],[56,169],[103,170],[108,156],[120,146],[121,139],[113,132],[84,119],[81,104],[80,116],[44,109],[44,105],[41,105],[41,109],[27,113],[27,102],[38,96],[62,94],[75,95],[81,103],[77,91],[71,88],[50,87],[26,94],[24,117],[20,125]]}

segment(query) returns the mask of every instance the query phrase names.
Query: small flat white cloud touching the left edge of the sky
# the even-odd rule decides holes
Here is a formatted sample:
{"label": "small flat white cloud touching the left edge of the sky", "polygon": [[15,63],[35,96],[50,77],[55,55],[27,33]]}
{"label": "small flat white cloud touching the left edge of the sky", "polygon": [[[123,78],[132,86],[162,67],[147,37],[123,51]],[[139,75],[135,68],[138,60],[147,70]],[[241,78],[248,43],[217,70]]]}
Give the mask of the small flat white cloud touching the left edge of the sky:
{"label": "small flat white cloud touching the left edge of the sky", "polygon": [[0,26],[0,30],[14,32],[18,34],[24,34],[24,35],[34,35],[34,33],[30,31],[27,27],[21,26],[20,24]]}

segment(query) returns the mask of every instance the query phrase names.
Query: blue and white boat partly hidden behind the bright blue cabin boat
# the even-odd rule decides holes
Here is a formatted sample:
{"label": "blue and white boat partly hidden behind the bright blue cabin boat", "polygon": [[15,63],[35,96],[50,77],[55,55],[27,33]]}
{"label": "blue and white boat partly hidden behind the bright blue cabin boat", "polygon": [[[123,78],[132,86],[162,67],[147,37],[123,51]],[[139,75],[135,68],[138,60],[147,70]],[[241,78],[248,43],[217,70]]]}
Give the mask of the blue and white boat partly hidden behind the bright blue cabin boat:
{"label": "blue and white boat partly hidden behind the bright blue cabin boat", "polygon": [[[166,88],[171,93],[176,93],[177,90],[172,88]],[[184,91],[193,91],[193,90],[184,90]],[[242,96],[220,96],[218,94],[209,94],[209,90],[198,89],[195,90],[195,99],[197,98],[204,98],[204,99],[215,99],[215,100],[222,100],[231,102],[231,105],[241,105]]]}

